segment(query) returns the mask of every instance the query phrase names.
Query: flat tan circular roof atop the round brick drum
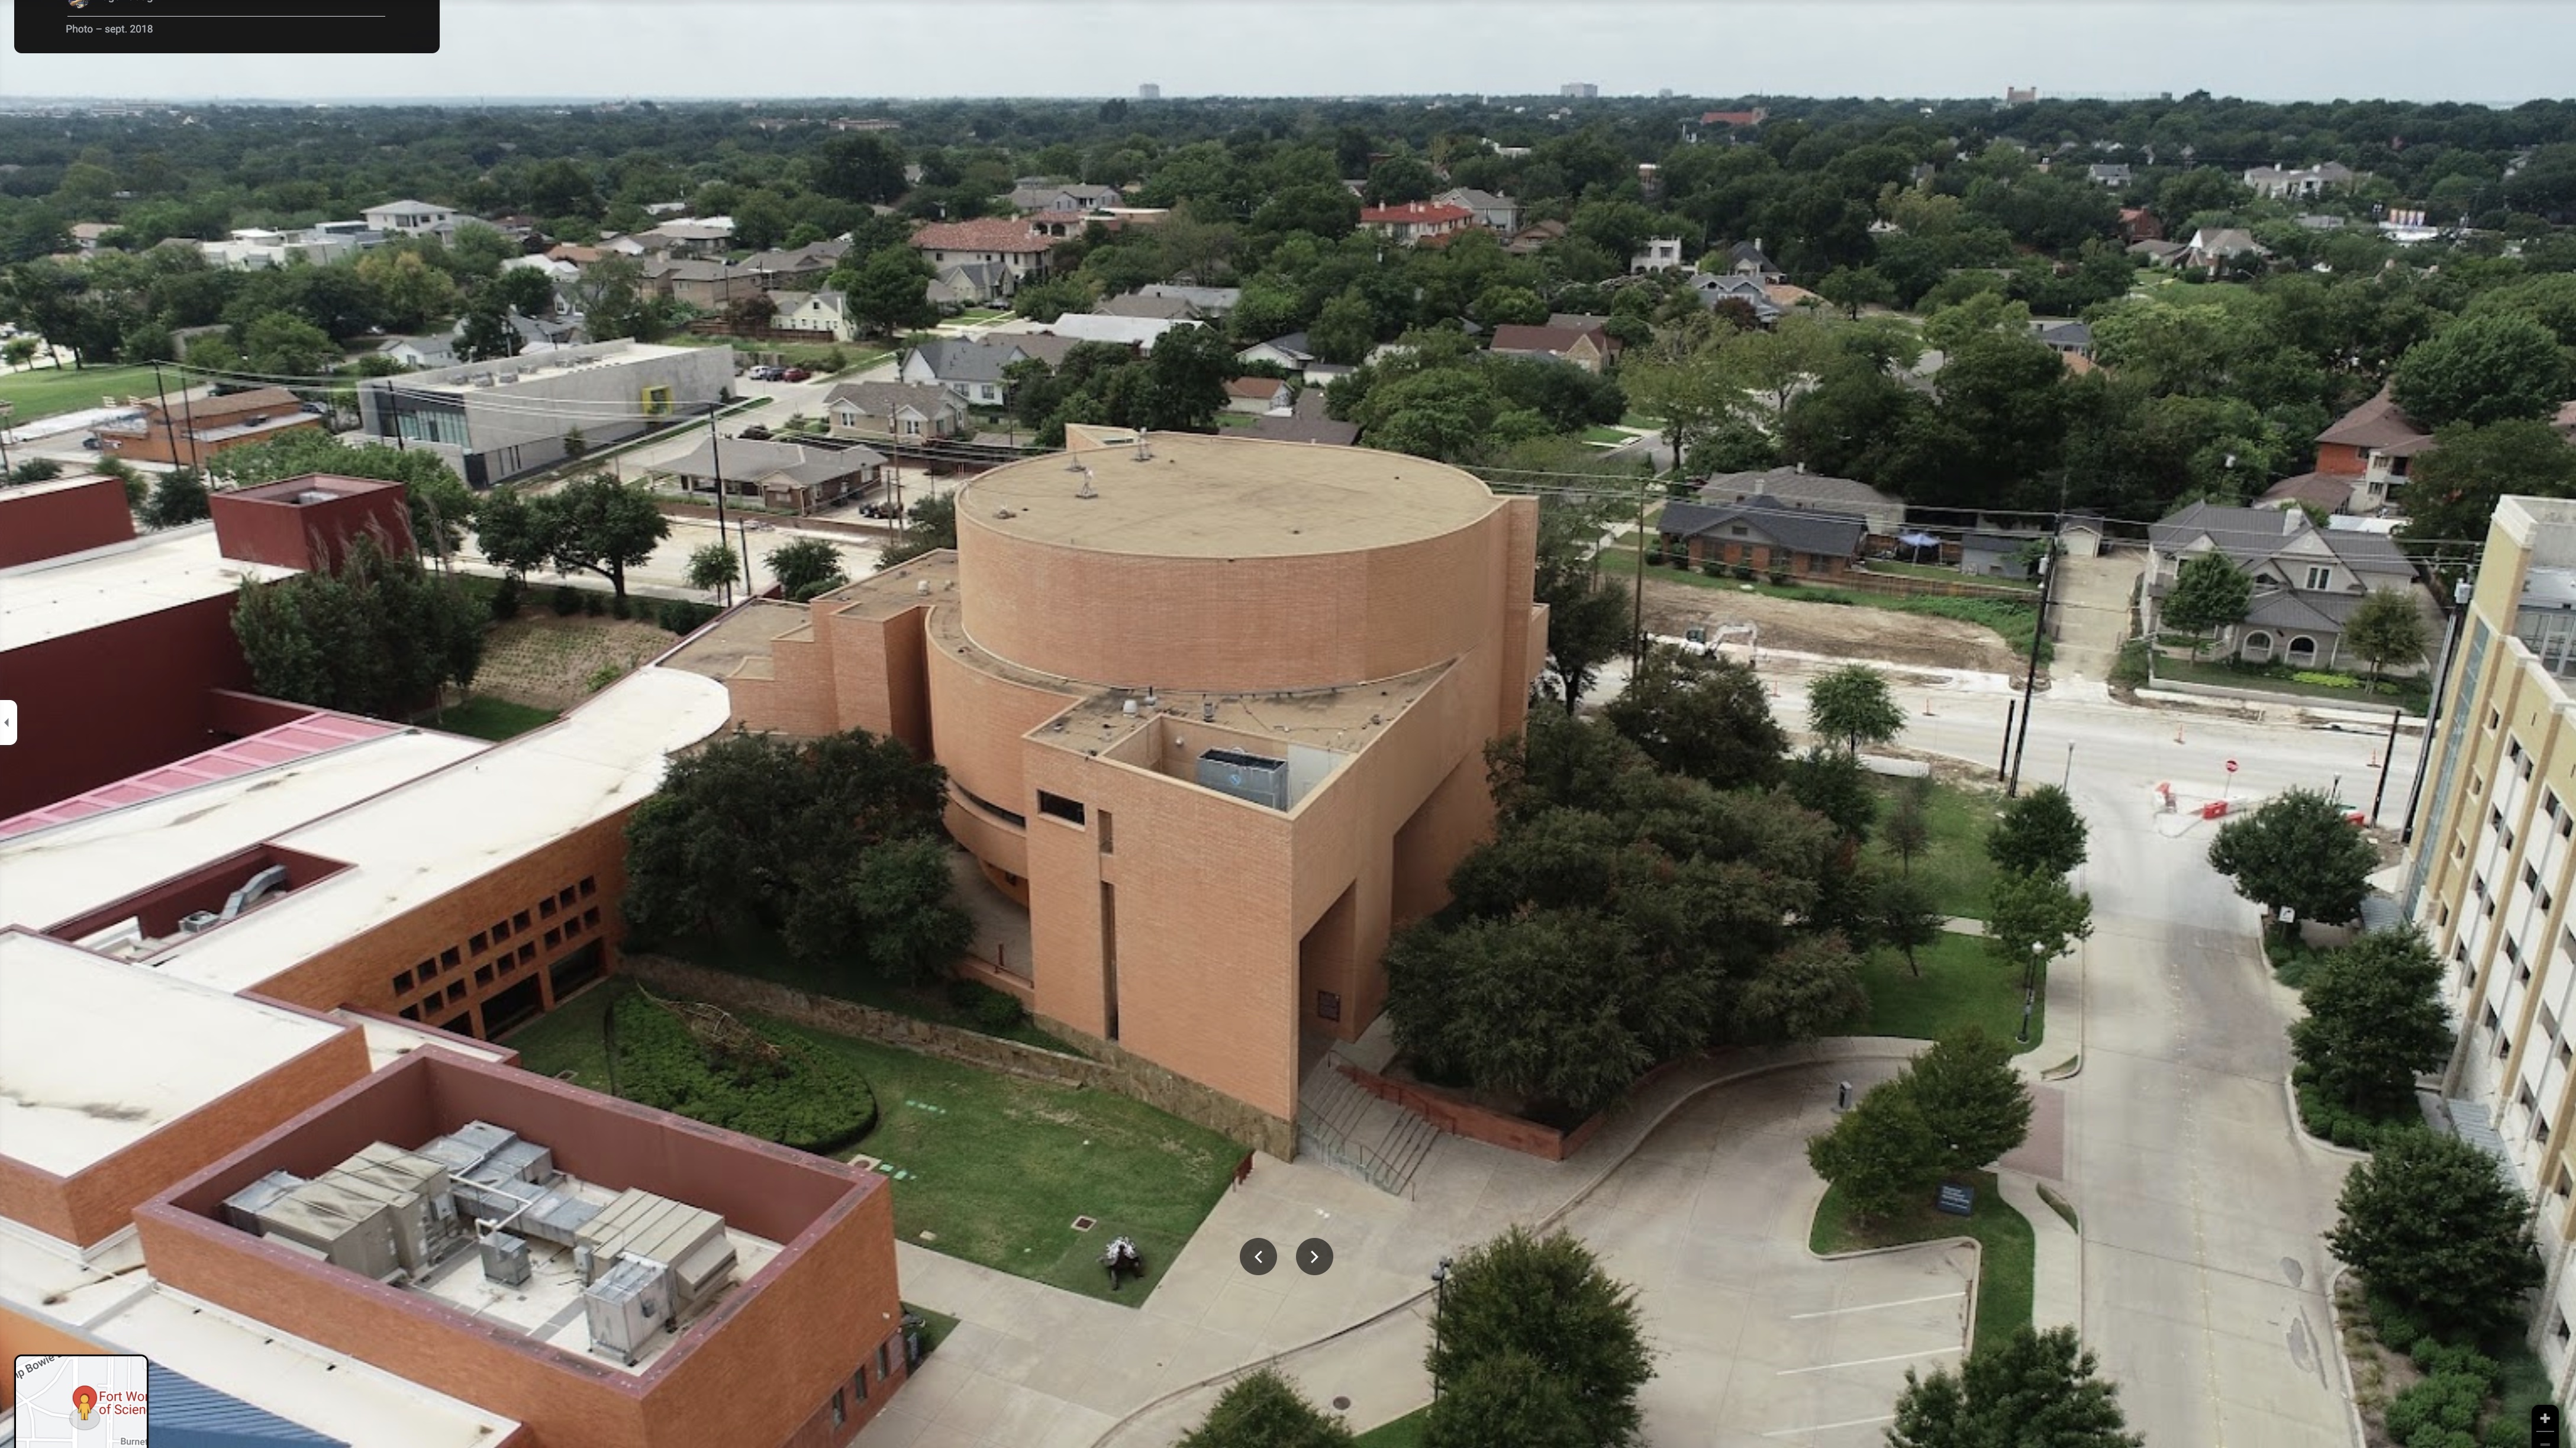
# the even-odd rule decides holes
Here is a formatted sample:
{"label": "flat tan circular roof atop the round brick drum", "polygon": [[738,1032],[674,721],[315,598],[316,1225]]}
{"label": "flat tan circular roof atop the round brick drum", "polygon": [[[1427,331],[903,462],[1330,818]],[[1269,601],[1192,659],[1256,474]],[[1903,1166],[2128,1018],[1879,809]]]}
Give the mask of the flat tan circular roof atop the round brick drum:
{"label": "flat tan circular roof atop the round brick drum", "polygon": [[[997,466],[958,492],[958,526],[1103,554],[1244,559],[1437,538],[1497,505],[1466,472],[1376,448],[1149,433],[1146,453],[1136,461],[1128,443]],[[1077,497],[1084,482],[1097,497]]]}

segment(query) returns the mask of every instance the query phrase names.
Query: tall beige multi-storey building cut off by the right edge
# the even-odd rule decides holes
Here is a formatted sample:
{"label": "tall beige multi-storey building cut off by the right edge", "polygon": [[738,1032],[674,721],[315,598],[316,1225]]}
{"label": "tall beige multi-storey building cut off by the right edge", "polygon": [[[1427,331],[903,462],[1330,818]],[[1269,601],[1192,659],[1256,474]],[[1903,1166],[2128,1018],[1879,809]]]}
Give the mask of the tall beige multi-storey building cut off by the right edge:
{"label": "tall beige multi-storey building cut off by the right edge", "polygon": [[2532,1345],[2576,1386],[2576,502],[2506,497],[2486,536],[2424,776],[2406,904],[2450,966],[2442,1095],[2532,1196],[2548,1286]]}

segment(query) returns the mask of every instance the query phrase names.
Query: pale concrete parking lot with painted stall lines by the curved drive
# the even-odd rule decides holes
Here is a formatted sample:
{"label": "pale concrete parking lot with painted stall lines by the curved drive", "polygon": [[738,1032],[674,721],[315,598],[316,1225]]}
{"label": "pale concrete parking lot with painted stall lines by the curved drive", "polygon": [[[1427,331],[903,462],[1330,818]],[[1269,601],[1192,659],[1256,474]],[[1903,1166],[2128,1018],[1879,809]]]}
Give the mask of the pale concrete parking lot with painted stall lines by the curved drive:
{"label": "pale concrete parking lot with painted stall lines by the curved drive", "polygon": [[1883,1440],[1906,1368],[1958,1366],[1973,1244],[1806,1250],[1824,1196],[1806,1139],[1837,1077],[1870,1085],[1801,1069],[1698,1098],[1566,1221],[1638,1288],[1659,1350],[1646,1440],[1860,1448]]}

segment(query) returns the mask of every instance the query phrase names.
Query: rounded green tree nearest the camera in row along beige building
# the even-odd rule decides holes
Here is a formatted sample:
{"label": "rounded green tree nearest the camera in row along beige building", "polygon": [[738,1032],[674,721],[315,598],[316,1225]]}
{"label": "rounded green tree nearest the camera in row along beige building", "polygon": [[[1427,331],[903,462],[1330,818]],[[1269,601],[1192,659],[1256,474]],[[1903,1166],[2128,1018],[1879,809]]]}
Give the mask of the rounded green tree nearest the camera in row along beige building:
{"label": "rounded green tree nearest the camera in row along beige building", "polygon": [[2437,1332],[2486,1335],[2540,1286],[2532,1206],[2486,1149],[2401,1131],[2344,1177],[2326,1232],[2336,1260]]}

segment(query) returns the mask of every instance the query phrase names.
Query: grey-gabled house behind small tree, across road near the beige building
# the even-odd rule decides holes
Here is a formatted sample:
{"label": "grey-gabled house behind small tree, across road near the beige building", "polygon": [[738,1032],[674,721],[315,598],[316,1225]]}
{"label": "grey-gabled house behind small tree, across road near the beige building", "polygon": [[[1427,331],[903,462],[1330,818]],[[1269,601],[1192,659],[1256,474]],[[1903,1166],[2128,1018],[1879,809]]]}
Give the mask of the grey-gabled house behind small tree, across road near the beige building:
{"label": "grey-gabled house behind small tree, across road near the beige building", "polygon": [[[2318,528],[2298,508],[2192,502],[2146,531],[2148,593],[2164,600],[2184,559],[2218,551],[2254,577],[2254,608],[2223,631],[2221,652],[2246,662],[2336,667],[2344,621],[2372,590],[2393,587],[2432,611],[2414,564],[2383,533]],[[2406,670],[2396,670],[2406,672]]]}

